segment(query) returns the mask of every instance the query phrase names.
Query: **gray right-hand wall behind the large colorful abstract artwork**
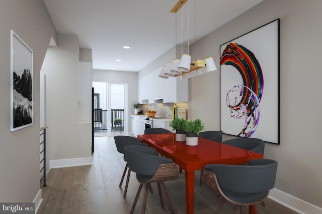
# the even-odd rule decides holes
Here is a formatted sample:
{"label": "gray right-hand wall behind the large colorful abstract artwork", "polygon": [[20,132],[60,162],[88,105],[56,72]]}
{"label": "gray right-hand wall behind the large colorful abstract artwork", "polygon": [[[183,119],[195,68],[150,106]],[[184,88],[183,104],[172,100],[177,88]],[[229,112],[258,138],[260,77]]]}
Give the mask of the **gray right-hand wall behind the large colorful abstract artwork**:
{"label": "gray right-hand wall behind the large colorful abstract artwork", "polygon": [[[264,0],[197,41],[198,58],[212,56],[218,70],[189,79],[188,112],[188,119],[200,118],[206,130],[219,130],[219,46],[280,18],[281,144],[267,143],[264,157],[279,162],[276,189],[318,207],[322,207],[322,115],[316,109],[322,104],[321,8],[319,0]],[[190,53],[194,48],[192,44]]]}

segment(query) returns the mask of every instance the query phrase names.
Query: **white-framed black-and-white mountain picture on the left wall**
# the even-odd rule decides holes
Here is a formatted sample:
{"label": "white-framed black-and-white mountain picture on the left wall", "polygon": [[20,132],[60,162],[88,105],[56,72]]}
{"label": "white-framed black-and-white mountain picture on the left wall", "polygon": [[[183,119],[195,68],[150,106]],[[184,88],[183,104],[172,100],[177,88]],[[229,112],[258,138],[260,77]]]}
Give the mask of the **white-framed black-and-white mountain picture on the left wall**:
{"label": "white-framed black-and-white mountain picture on the left wall", "polygon": [[33,125],[34,52],[11,31],[11,131]]}

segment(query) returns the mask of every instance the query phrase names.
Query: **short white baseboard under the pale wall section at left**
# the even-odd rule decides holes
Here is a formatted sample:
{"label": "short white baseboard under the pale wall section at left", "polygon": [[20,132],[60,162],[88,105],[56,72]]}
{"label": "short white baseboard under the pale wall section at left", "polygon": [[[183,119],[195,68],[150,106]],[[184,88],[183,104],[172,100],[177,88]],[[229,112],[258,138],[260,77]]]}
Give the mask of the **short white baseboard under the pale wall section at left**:
{"label": "short white baseboard under the pale wall section at left", "polygon": [[52,168],[63,168],[71,166],[86,166],[93,164],[93,157],[70,158],[60,160],[49,160],[49,170]]}

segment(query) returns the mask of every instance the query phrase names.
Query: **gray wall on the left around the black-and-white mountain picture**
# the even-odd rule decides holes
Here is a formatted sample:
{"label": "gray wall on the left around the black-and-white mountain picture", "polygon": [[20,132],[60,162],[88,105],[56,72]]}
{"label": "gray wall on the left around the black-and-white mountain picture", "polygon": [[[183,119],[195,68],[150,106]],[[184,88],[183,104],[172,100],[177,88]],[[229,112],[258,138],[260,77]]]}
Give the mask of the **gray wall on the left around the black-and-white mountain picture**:
{"label": "gray wall on the left around the black-and-white mountain picture", "polygon": [[[34,125],[10,131],[10,30],[34,52]],[[0,3],[0,201],[33,201],[39,183],[39,72],[56,31],[42,0]]]}

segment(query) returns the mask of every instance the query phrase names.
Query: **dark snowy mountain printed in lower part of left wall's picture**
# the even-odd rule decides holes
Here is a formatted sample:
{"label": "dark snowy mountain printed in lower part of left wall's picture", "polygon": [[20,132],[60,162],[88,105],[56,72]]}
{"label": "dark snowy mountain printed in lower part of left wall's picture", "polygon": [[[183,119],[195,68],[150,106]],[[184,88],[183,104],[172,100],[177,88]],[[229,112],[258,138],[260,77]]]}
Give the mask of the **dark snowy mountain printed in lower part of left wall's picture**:
{"label": "dark snowy mountain printed in lower part of left wall's picture", "polygon": [[21,77],[14,71],[14,128],[32,123],[32,76],[24,69]]}

